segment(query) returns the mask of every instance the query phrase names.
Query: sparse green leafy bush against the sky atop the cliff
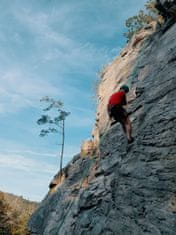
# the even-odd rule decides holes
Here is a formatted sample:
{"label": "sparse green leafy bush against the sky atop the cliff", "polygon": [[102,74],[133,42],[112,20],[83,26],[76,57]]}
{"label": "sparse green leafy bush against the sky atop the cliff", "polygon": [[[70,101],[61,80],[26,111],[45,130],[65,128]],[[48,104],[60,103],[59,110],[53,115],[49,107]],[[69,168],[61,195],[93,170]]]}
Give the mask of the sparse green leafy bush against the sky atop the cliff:
{"label": "sparse green leafy bush against the sky atop the cliff", "polygon": [[158,11],[155,8],[155,0],[149,0],[145,4],[145,11],[141,10],[136,16],[130,17],[126,20],[126,27],[128,31],[124,33],[124,36],[129,41],[132,36],[139,30],[147,26],[150,22],[158,19]]}

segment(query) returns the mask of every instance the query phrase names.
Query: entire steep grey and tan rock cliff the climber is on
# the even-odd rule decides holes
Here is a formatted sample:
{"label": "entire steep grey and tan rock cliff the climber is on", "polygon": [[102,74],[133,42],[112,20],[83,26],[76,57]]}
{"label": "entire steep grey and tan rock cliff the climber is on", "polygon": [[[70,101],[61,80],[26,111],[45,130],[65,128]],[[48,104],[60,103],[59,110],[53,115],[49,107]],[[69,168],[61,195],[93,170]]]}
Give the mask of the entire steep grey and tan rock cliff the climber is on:
{"label": "entire steep grey and tan rock cliff the climber is on", "polygon": [[[104,70],[99,152],[73,158],[65,181],[31,217],[31,235],[176,234],[175,38],[176,24],[131,45]],[[108,128],[104,107],[126,82],[132,89],[130,145],[119,124]]]}

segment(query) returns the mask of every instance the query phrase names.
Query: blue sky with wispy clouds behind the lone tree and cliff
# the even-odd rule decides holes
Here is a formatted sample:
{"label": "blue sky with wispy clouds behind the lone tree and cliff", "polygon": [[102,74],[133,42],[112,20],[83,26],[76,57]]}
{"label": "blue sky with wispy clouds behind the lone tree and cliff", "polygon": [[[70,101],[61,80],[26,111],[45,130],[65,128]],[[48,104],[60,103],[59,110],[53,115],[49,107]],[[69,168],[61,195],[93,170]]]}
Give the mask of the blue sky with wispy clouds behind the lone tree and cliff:
{"label": "blue sky with wispy clouds behind the lone tree and cliff", "polygon": [[64,164],[91,137],[97,73],[125,45],[145,0],[0,0],[0,190],[40,201],[58,172],[59,136],[39,137],[40,98],[64,102]]}

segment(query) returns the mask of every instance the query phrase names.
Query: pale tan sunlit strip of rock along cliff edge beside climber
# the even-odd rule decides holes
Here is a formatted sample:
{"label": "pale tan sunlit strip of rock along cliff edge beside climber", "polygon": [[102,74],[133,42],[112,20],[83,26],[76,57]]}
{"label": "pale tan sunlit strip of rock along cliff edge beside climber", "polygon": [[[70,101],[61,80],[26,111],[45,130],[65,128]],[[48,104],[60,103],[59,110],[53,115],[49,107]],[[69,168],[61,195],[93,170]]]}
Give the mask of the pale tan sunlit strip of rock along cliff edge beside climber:
{"label": "pale tan sunlit strip of rock along cliff edge beside climber", "polygon": [[[135,34],[126,48],[122,50],[120,56],[102,71],[102,79],[97,90],[98,106],[96,122],[92,132],[96,143],[99,143],[99,136],[104,133],[108,126],[107,103],[110,95],[124,83],[131,87],[135,76],[135,68],[139,60],[139,53],[143,48],[146,38],[153,34],[154,30],[155,25],[151,24],[147,29],[143,29]],[[131,100],[135,98],[134,90],[135,87],[131,89],[129,94],[129,99]]]}

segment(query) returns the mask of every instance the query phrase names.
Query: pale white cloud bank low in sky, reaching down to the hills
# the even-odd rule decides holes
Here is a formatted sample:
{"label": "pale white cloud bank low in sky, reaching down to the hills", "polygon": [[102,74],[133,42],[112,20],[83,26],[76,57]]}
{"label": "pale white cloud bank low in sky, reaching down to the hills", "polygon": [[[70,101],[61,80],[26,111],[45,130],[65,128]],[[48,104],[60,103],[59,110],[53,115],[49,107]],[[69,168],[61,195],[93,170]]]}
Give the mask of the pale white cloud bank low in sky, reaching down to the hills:
{"label": "pale white cloud bank low in sky, reaching down to the hills", "polygon": [[[26,149],[15,143],[3,141],[0,152],[1,190],[40,201],[48,192],[49,182],[59,171],[58,152]],[[13,146],[13,147],[12,147]],[[77,154],[75,146],[65,146],[64,165]]]}

